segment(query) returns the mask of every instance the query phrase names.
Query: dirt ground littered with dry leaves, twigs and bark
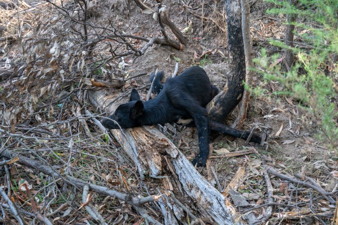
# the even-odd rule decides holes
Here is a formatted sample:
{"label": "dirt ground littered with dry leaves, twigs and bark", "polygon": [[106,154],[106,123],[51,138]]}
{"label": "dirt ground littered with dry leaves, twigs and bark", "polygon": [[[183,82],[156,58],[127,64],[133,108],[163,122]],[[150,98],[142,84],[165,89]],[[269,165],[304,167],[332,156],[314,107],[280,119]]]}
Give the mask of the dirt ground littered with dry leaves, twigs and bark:
{"label": "dirt ground littered with dry leaves, twigs and bark", "polygon": [[[154,2],[145,1],[150,8],[155,9],[157,6]],[[132,87],[149,84],[149,75],[156,68],[163,70],[166,75],[170,75],[174,71],[176,62],[179,62],[178,74],[189,66],[197,64],[206,70],[211,83],[215,84],[220,90],[223,88],[228,73],[227,34],[223,1],[196,0],[189,4],[189,7],[185,7],[182,2],[163,1],[163,4],[166,5],[170,19],[178,28],[184,30],[184,28],[188,27],[184,33],[189,40],[188,44],[184,46],[183,50],[177,50],[168,45],[154,44],[141,56],[127,55],[123,60],[119,58],[107,62],[104,70],[99,69],[99,72],[92,72],[90,77],[97,79],[107,79],[108,76],[128,78],[138,73],[147,73],[145,76],[128,80],[123,88],[105,89],[107,95],[116,98],[121,96],[123,91]],[[0,28],[2,27],[0,29],[2,36],[0,42],[0,67],[2,69],[14,69],[14,71],[20,73],[20,65],[25,65],[25,77],[29,77],[30,71],[36,71],[35,69],[40,66],[39,60],[43,61],[44,59],[37,57],[31,67],[28,66],[26,64],[28,59],[23,56],[25,54],[20,50],[21,40],[28,41],[27,39],[30,36],[32,36],[32,39],[37,39],[37,30],[45,29],[40,34],[41,43],[45,41],[44,38],[51,40],[51,42],[58,38],[63,38],[63,41],[67,41],[67,36],[62,33],[63,27],[67,26],[67,23],[65,23],[67,21],[66,17],[62,18],[60,12],[47,3],[41,2],[41,4],[31,8],[35,3],[37,2],[27,1],[26,3],[23,1],[19,8],[13,9],[2,9],[0,7]],[[74,5],[74,2],[67,2],[66,5],[69,8],[78,7]],[[283,39],[285,33],[285,15],[273,16],[265,14],[265,10],[271,6],[271,3],[262,0],[250,1],[250,29],[253,38],[254,56],[259,55],[262,47],[265,47],[269,54],[283,53],[282,49],[271,46],[267,40],[267,38]],[[25,10],[25,12],[18,13],[20,10]],[[95,24],[109,26],[109,23],[113,23],[121,33],[148,38],[161,36],[160,26],[152,18],[152,14],[147,11],[141,11],[134,1],[94,0],[89,3],[89,11],[91,16],[89,16],[88,21]],[[16,15],[19,15],[17,20]],[[80,30],[81,27],[82,25],[77,24],[75,25],[75,30]],[[169,36],[175,39],[169,28],[166,27],[166,29]],[[18,38],[18,30],[20,30],[22,38]],[[13,39],[17,41],[13,41]],[[297,37],[295,39],[297,40]],[[114,46],[118,46],[116,42],[111,42],[112,45],[116,44]],[[35,42],[36,48],[39,46],[37,43]],[[133,44],[138,48],[142,48],[145,42],[135,41]],[[39,53],[43,52],[42,48]],[[29,50],[29,47],[27,47],[27,50]],[[66,54],[70,54],[68,49],[65,50],[63,48],[62,50],[59,57],[65,57]],[[49,53],[53,54],[51,51]],[[79,54],[74,58],[81,58]],[[98,60],[102,55],[109,55],[108,47],[98,48],[92,61]],[[40,67],[55,66],[67,71],[66,68],[68,68],[70,61],[60,60],[58,63],[54,61],[50,64],[45,64],[44,62]],[[79,67],[81,67],[80,59]],[[68,172],[76,178],[108,186],[121,192],[130,191],[140,196],[158,194],[159,190],[156,188],[162,183],[161,179],[146,176],[145,180],[140,180],[133,162],[116,141],[108,141],[107,136],[103,135],[102,131],[90,119],[87,121],[89,130],[86,131],[80,119],[76,118],[79,115],[78,113],[81,114],[83,108],[89,109],[93,114],[100,113],[99,108],[91,106],[90,103],[86,102],[85,98],[79,97],[83,94],[81,91],[85,90],[85,86],[81,82],[85,78],[90,78],[85,69],[81,71],[83,74],[67,71],[69,74],[63,75],[66,77],[63,82],[60,81],[62,78],[58,75],[55,78],[55,83],[58,83],[58,85],[55,88],[51,86],[48,91],[44,90],[46,93],[39,87],[36,90],[38,91],[37,100],[32,97],[32,95],[34,96],[32,93],[34,93],[35,86],[38,86],[35,82],[45,82],[43,86],[48,86],[51,83],[53,85],[51,80],[54,80],[54,78],[51,77],[54,77],[54,75],[52,73],[46,73],[45,77],[35,82],[32,80],[25,82],[25,79],[21,80],[20,78],[20,84],[18,84],[18,81],[14,81],[17,78],[1,78],[0,93],[2,94],[3,102],[0,105],[0,114],[2,114],[0,116],[2,119],[0,128],[20,135],[45,137],[40,142],[35,142],[33,138],[23,138],[27,144],[23,145],[21,142],[16,141],[15,136],[1,131],[1,149],[9,146],[7,150],[11,153],[19,152],[32,159],[41,159],[38,157],[39,155],[61,173]],[[70,76],[70,74],[73,74],[73,76]],[[72,78],[69,79],[68,77]],[[262,82],[262,78],[255,76],[254,85],[259,82]],[[16,89],[12,87],[13,83],[15,83]],[[24,86],[30,86],[30,88],[25,89]],[[274,90],[283,88],[280,83],[272,82],[267,83],[266,86],[271,91],[271,95]],[[87,87],[91,88],[90,85]],[[147,91],[148,88],[139,92],[141,96],[145,96]],[[66,98],[62,98],[62,96],[66,96]],[[32,107],[27,106],[28,103],[26,104],[25,102],[32,101],[32,98],[35,104]],[[129,95],[125,95],[125,97],[119,99],[119,102],[126,102],[128,98]],[[27,107],[27,110],[17,109],[18,105],[22,108]],[[81,109],[78,108],[79,105],[82,107]],[[83,114],[87,113],[83,112]],[[232,123],[236,115],[237,109],[229,116],[228,124]],[[13,121],[17,124],[13,123]],[[24,125],[20,125],[22,122]],[[288,176],[298,173],[300,174],[299,180],[307,180],[306,176],[309,176],[315,180],[322,190],[327,192],[336,191],[337,157],[327,149],[325,143],[316,140],[316,122],[312,120],[311,115],[306,114],[305,111],[299,108],[296,102],[292,101],[292,99],[277,99],[273,96],[271,100],[251,96],[247,118],[242,129],[248,130],[253,124],[269,127],[267,129],[269,138],[266,145],[262,147],[245,144],[245,140],[234,139],[221,134],[212,134],[213,152],[210,160],[216,176],[210,176],[210,171],[207,168],[197,168],[220,192],[223,192],[240,168],[245,168],[242,179],[237,182],[236,190],[246,198],[250,205],[241,207],[239,212],[267,203],[264,165],[272,166],[278,172]],[[32,127],[38,128],[36,128],[36,131],[27,133],[27,128]],[[175,125],[174,128],[175,133],[171,133],[169,138],[188,158],[193,158],[199,150],[196,130],[194,128],[176,127]],[[257,128],[255,132],[261,133],[263,131]],[[11,143],[14,144],[9,145]],[[50,148],[55,153],[52,153]],[[238,157],[224,156],[229,152],[247,149],[252,149],[256,153]],[[68,162],[66,163],[68,164],[67,166],[63,164],[64,161]],[[0,171],[1,174],[4,174],[2,175],[3,178],[0,178],[1,186],[8,191],[10,182],[13,200],[20,206],[22,211],[27,212],[23,212],[26,221],[34,221],[34,215],[32,216],[34,208],[32,209],[29,196],[24,191],[22,183],[26,183],[29,186],[34,194],[38,208],[40,208],[41,212],[46,209],[44,215],[47,216],[49,214],[48,218],[53,224],[95,224],[92,216],[81,208],[83,206],[81,191],[76,188],[68,186],[69,184],[61,184],[60,179],[55,181],[56,179],[34,171],[18,162],[9,165],[10,173],[6,173],[6,171]],[[170,173],[163,175],[170,176]],[[53,184],[53,182],[54,185],[51,185],[53,188],[48,187],[48,184]],[[217,182],[220,185],[217,185]],[[270,224],[322,224],[322,222],[328,224],[331,222],[330,219],[333,216],[335,205],[322,197],[320,193],[315,190],[310,192],[308,187],[283,180],[274,175],[271,175],[271,182],[275,204],[273,205],[273,213],[268,219]],[[178,191],[175,185],[173,192],[176,198],[184,202],[193,214],[198,215],[200,213],[196,202]],[[108,224],[145,223],[142,213],[136,211],[125,201],[94,194],[92,202]],[[297,204],[297,202],[302,202],[302,204]],[[309,206],[309,204],[312,204],[312,206]],[[10,221],[15,221],[11,210],[6,206],[3,207],[6,211],[4,221],[8,224],[10,224]],[[266,212],[266,207],[259,207],[252,211],[258,216]],[[163,215],[159,210],[158,204],[149,204],[146,210],[150,215],[162,222]],[[189,224],[185,221],[182,223]],[[211,224],[212,221],[205,220],[206,223]]]}

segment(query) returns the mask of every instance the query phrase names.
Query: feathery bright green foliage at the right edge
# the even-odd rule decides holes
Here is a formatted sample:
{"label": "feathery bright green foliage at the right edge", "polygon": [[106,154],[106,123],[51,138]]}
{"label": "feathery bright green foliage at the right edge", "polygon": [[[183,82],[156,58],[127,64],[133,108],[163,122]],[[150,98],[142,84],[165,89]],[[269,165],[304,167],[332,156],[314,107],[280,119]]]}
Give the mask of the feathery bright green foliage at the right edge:
{"label": "feathery bright green foliage at the right edge", "polygon": [[[280,66],[280,54],[267,55],[263,49],[261,56],[254,59],[254,70],[262,75],[263,82],[252,89],[257,96],[269,98],[264,88],[270,81],[280,82],[283,91],[275,91],[275,96],[292,96],[298,105],[314,116],[318,127],[317,137],[327,143],[329,147],[337,149],[338,110],[334,102],[337,101],[338,87],[338,29],[336,0],[299,0],[298,4],[289,5],[288,0],[266,0],[275,4],[267,13],[295,14],[295,35],[306,43],[288,47],[281,41],[270,41],[272,45],[291,49],[296,55],[294,65],[290,71]],[[299,22],[301,21],[301,22]],[[338,151],[336,150],[338,153]]]}

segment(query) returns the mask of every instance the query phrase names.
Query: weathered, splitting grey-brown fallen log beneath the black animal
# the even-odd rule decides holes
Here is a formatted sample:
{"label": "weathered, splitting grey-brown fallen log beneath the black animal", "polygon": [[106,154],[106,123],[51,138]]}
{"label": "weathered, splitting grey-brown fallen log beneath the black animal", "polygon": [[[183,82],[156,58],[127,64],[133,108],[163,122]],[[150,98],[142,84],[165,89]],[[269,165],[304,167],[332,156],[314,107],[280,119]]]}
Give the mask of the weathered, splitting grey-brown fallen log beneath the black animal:
{"label": "weathered, splitting grey-brown fallen log beneath the black animal", "polygon": [[[112,99],[102,90],[89,92],[90,101],[96,106],[106,108],[110,113],[117,107],[109,104]],[[217,224],[243,224],[231,203],[204,179],[192,163],[156,127],[143,126],[133,129],[111,130],[116,140],[135,162],[141,177],[145,173],[160,175],[162,155],[170,159],[174,172],[185,190],[193,198],[201,211]],[[164,187],[159,187],[164,189]]]}

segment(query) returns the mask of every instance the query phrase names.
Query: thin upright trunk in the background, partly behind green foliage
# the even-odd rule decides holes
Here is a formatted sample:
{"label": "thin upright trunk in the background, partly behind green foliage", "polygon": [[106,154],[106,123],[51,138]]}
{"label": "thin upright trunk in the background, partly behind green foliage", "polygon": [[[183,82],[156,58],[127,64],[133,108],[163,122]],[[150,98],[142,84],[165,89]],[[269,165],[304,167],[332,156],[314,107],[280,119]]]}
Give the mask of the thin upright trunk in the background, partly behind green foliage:
{"label": "thin upright trunk in the background, partly behind green foliage", "polygon": [[[289,0],[290,5],[295,4],[295,0]],[[295,21],[295,15],[294,14],[288,14],[287,15],[287,26],[286,26],[286,33],[285,33],[285,43],[287,46],[292,47],[293,46],[293,30],[294,30],[294,25],[291,24]],[[294,56],[293,53],[290,49],[286,49],[285,51],[285,61],[286,61],[286,69],[290,70],[293,61],[294,61]]]}

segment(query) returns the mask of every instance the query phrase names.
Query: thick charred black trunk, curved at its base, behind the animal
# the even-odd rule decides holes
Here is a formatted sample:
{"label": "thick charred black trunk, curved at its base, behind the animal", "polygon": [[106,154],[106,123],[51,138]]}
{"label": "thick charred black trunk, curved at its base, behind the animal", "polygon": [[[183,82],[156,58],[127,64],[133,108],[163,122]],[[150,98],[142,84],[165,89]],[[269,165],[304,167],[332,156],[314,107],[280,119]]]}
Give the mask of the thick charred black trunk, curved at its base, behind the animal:
{"label": "thick charred black trunk, curved at its base, behind the animal", "polygon": [[245,56],[240,0],[225,0],[228,28],[229,75],[224,89],[210,102],[209,118],[224,122],[242,98],[245,80]]}

